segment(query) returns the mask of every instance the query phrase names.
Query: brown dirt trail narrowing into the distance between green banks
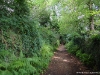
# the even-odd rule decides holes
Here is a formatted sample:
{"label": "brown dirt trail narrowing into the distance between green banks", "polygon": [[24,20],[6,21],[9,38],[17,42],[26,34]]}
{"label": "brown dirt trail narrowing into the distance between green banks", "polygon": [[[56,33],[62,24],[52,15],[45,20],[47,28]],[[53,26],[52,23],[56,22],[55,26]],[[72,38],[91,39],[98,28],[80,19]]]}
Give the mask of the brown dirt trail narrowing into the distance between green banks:
{"label": "brown dirt trail narrowing into the distance between green banks", "polygon": [[60,45],[43,75],[86,75],[79,72],[87,71],[75,56],[66,51],[64,45]]}

